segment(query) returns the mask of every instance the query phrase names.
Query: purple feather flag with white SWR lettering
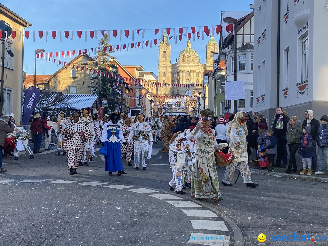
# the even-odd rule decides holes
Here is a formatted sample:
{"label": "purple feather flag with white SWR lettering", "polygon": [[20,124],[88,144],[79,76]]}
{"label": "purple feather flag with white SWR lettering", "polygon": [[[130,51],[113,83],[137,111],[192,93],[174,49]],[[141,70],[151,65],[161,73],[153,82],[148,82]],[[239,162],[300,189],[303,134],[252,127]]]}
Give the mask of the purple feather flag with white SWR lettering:
{"label": "purple feather flag with white SWR lettering", "polygon": [[26,128],[30,121],[35,105],[39,99],[40,92],[38,88],[31,86],[25,92],[23,105],[23,126]]}

